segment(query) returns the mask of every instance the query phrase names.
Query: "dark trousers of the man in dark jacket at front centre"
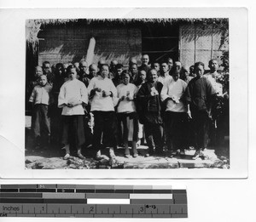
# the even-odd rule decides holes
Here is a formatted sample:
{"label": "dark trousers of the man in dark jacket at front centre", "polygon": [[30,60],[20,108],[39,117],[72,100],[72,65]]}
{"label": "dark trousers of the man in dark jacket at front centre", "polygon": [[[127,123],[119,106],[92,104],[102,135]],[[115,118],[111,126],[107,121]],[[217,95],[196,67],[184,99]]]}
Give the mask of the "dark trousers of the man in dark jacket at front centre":
{"label": "dark trousers of the man in dark jacket at front centre", "polygon": [[144,122],[144,130],[149,151],[161,151],[163,146],[163,127],[160,123]]}

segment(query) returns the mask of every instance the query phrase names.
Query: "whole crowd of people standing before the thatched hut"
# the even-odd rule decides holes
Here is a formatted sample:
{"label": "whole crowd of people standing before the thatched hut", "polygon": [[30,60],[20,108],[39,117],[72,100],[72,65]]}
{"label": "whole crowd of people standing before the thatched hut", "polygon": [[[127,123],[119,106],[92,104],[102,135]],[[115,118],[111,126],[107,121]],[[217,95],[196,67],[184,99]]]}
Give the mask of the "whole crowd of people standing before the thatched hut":
{"label": "whole crowd of people standing before the thatched hut", "polygon": [[[46,62],[46,65],[48,64]],[[116,119],[116,112],[125,126],[130,119],[143,124],[148,154],[154,151],[162,153],[163,147],[166,146],[172,150],[172,157],[183,157],[185,149],[194,146],[193,158],[196,159],[202,157],[202,151],[207,148],[209,141],[216,144],[217,140],[224,136],[218,134],[223,131],[223,116],[219,114],[219,104],[228,100],[229,87],[223,83],[224,75],[218,72],[218,60],[210,60],[208,66],[210,70],[205,73],[205,65],[202,62],[196,62],[186,68],[180,61],[173,62],[172,58],[149,65],[149,56],[144,54],[142,65],[138,66],[137,60],[131,59],[128,71],[116,60],[110,65],[100,60],[98,65],[90,65],[88,71],[86,61],[81,60],[67,67],[60,63],[55,65],[54,75],[44,71],[48,83],[45,83],[45,77],[38,75],[40,81],[38,85],[36,83],[36,89],[44,88],[43,91],[46,90],[49,94],[49,85],[52,86],[51,93],[54,95],[56,107],[54,115],[61,114],[64,117],[61,143],[67,151],[66,159],[70,157],[71,144],[78,146],[78,157],[84,158],[81,151],[86,140],[84,118],[81,117],[84,113],[93,114],[90,115],[93,118],[89,122],[90,126],[93,126],[92,145],[97,151],[96,158],[101,157],[102,143],[107,145],[109,141],[108,146],[112,146],[109,154],[114,157],[119,134],[119,118]],[[132,88],[132,94],[127,88]],[[37,90],[33,90],[30,98],[36,106],[40,104]],[[50,98],[48,95],[46,100]],[[42,98],[40,100],[42,101]],[[44,102],[44,110],[45,105],[49,104],[50,102]],[[119,113],[120,105],[122,113]],[[58,111],[59,108],[62,109],[61,112]],[[38,108],[35,112],[37,111]],[[58,121],[61,119],[57,118]],[[35,122],[33,124],[35,126]],[[40,124],[42,122],[38,122],[38,125]],[[49,123],[46,125],[49,127]],[[139,125],[134,125],[137,128],[133,128],[133,131],[138,134]],[[50,129],[48,131],[50,134]],[[127,132],[125,134],[127,137]],[[133,139],[136,144],[139,137],[133,136]],[[125,146],[128,147],[126,140]],[[136,148],[133,147],[134,157],[137,157]]]}

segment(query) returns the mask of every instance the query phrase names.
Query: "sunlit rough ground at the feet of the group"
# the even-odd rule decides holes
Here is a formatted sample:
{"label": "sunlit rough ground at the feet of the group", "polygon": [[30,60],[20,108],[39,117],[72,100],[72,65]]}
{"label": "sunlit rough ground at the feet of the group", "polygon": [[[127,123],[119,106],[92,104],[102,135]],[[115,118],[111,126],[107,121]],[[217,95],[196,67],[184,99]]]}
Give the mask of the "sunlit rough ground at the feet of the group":
{"label": "sunlit rough ground at the feet of the group", "polygon": [[[95,151],[90,147],[84,147],[82,153],[85,160],[74,157],[63,160],[65,151],[60,145],[48,145],[44,148],[35,148],[32,144],[29,121],[26,121],[26,168],[230,168],[229,139],[219,147],[209,147],[204,151],[204,159],[193,160],[195,150],[185,151],[186,156],[172,157],[171,151],[165,151],[163,155],[145,157],[147,145],[140,145],[137,150],[139,157],[126,158],[124,147],[118,147],[115,151],[116,158],[109,159],[108,149],[102,150],[104,159],[95,160]],[[74,155],[75,156],[75,155]]]}

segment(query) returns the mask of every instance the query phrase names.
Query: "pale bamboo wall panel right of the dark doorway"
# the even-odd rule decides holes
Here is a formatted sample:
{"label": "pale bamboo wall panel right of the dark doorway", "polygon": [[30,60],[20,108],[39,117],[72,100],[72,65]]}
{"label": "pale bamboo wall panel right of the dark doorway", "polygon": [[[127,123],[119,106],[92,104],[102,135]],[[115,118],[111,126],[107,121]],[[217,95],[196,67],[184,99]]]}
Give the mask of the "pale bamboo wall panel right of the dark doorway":
{"label": "pale bamboo wall panel right of the dark doorway", "polygon": [[221,56],[229,50],[228,30],[218,26],[182,25],[180,26],[179,55],[183,65],[194,65],[201,61],[217,59],[221,64]]}

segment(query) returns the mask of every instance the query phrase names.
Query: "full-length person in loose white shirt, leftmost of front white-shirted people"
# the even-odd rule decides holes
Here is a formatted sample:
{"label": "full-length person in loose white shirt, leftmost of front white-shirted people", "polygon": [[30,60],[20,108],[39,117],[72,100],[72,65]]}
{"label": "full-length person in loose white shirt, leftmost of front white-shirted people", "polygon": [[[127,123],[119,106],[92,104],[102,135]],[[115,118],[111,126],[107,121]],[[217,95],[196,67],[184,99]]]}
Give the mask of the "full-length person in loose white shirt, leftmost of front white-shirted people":
{"label": "full-length person in loose white shirt, leftmost of front white-shirted people", "polygon": [[67,74],[69,79],[61,86],[58,100],[63,117],[62,144],[65,145],[66,150],[64,159],[71,158],[70,145],[77,148],[77,155],[80,159],[85,159],[81,153],[81,147],[85,141],[83,105],[88,104],[88,93],[84,83],[77,79],[74,65],[67,67]]}

